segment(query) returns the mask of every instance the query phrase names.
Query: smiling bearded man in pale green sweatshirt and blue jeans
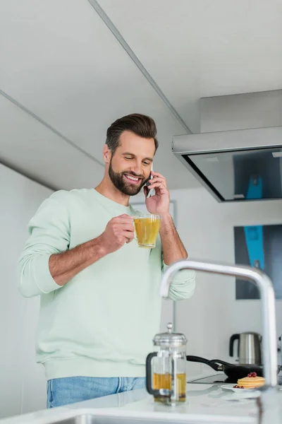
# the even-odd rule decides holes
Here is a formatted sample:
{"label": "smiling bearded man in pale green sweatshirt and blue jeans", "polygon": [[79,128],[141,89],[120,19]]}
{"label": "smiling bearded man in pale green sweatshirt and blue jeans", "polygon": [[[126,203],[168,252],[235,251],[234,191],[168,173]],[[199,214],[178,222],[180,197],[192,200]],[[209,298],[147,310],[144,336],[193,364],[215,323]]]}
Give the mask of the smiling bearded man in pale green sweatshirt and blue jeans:
{"label": "smiling bearded man in pale green sweatshirt and blue jeans", "polygon": [[[102,182],[52,194],[30,220],[20,291],[41,296],[37,362],[49,408],[145,386],[145,358],[160,326],[161,271],[187,258],[158,172],[144,187],[145,196],[155,189],[148,211],[161,215],[157,245],[140,249],[134,240],[129,199],[149,180],[156,135],[150,117],[117,119],[106,134]],[[194,289],[194,271],[183,271],[169,298],[189,298]]]}

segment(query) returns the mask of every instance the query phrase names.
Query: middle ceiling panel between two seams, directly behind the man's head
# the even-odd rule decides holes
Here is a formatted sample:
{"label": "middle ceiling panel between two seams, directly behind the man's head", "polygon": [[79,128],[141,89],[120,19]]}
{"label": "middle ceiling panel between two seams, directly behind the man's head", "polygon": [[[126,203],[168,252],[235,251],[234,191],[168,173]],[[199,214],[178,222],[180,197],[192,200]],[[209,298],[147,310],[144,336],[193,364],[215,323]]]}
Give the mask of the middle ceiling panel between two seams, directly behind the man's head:
{"label": "middle ceiling panel between two seams, directly behind the man's head", "polygon": [[160,142],[155,169],[171,188],[198,186],[171,153],[185,129],[87,0],[0,2],[0,53],[0,88],[85,151],[102,160],[111,122],[149,114]]}

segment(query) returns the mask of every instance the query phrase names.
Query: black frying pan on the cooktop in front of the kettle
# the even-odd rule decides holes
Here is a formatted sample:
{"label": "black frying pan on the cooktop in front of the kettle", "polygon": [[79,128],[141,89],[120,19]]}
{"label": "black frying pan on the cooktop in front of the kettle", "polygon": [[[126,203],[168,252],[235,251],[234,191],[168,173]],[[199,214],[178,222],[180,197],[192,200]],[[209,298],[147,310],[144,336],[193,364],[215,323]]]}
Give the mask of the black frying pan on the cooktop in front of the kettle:
{"label": "black frying pan on the cooktop in front of the kettle", "polygon": [[[257,375],[259,377],[263,377],[264,370],[262,365],[235,365],[231,363],[227,363],[224,360],[220,359],[212,359],[208,360],[205,358],[201,358],[200,356],[192,356],[188,355],[186,356],[186,359],[190,362],[197,362],[209,365],[209,367],[212,367],[215,371],[223,371],[224,374],[227,375],[228,380],[230,382],[237,383],[237,380],[239,378],[247,377],[249,372],[257,372]],[[281,370],[280,365],[277,367],[277,374]]]}

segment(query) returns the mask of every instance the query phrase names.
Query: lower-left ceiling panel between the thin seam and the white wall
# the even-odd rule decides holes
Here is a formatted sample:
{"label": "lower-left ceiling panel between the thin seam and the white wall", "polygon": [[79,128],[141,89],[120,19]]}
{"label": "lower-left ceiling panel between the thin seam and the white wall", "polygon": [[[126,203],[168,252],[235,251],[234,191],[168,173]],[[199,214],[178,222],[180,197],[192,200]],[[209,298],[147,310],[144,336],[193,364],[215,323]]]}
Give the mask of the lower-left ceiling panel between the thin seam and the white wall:
{"label": "lower-left ceiling panel between the thin seam and the white wall", "polygon": [[54,189],[94,187],[104,167],[0,96],[0,162]]}

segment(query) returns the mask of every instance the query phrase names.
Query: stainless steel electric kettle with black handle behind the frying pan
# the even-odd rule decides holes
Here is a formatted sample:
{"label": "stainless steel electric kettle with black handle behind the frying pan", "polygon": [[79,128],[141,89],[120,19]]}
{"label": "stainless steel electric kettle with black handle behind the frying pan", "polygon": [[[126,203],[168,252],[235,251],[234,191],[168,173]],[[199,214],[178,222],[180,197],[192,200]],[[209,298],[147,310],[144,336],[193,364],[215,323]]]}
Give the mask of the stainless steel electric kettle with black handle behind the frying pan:
{"label": "stainless steel electric kettle with black handle behind the frying pan", "polygon": [[229,355],[233,356],[234,341],[238,340],[238,358],[242,365],[262,365],[261,341],[257,333],[233,334],[229,341]]}

